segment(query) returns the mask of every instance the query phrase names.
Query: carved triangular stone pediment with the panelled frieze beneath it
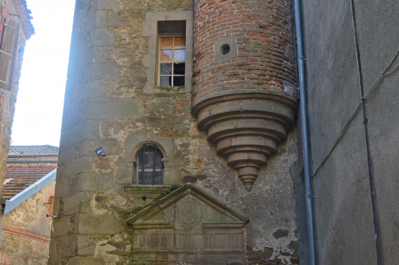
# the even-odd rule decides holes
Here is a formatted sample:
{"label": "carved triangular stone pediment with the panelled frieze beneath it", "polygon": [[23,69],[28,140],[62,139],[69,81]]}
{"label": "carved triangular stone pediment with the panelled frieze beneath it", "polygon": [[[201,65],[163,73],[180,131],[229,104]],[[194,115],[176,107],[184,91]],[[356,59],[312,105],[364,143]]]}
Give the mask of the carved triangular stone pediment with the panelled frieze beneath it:
{"label": "carved triangular stone pediment with the panelled frieze beneath it", "polygon": [[186,184],[128,220],[132,264],[245,264],[247,218]]}

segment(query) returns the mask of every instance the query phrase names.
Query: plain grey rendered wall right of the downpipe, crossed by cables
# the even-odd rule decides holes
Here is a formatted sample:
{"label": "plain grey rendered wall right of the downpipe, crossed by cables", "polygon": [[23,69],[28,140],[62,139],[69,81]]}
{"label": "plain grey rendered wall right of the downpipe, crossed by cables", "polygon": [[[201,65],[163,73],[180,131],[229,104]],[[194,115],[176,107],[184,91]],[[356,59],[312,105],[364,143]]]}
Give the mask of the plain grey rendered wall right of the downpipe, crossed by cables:
{"label": "plain grey rendered wall right of the downpipe, crossed by cables", "polygon": [[[398,261],[398,1],[354,1],[384,264]],[[350,1],[303,1],[319,264],[377,264]]]}

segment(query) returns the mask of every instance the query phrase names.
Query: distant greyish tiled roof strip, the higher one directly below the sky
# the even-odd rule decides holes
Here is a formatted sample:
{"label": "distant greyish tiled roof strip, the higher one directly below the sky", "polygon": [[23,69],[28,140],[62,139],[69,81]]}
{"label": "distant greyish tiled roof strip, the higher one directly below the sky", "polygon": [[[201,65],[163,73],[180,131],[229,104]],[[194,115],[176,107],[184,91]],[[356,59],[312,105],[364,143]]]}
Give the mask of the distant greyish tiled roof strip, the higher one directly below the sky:
{"label": "distant greyish tiled roof strip, the higher one directly below the sky", "polygon": [[8,158],[43,158],[58,156],[58,147],[52,145],[10,146]]}

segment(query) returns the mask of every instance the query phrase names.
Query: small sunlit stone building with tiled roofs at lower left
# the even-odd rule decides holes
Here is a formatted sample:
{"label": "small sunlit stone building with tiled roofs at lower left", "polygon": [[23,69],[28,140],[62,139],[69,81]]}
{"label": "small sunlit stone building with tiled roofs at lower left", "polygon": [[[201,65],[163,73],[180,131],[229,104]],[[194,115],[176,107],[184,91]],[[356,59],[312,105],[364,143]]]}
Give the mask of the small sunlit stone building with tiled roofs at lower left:
{"label": "small sunlit stone building with tiled roofs at lower left", "polygon": [[10,146],[1,197],[0,264],[48,259],[56,146]]}

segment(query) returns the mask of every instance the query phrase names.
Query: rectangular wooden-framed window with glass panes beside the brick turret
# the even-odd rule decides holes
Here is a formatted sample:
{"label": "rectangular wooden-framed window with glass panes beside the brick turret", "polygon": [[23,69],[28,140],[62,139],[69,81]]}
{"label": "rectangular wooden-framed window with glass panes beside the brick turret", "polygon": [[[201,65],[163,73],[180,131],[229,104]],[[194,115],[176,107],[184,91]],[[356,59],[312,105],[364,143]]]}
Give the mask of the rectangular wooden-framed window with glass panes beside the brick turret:
{"label": "rectangular wooden-framed window with glass panes beside the brick turret", "polygon": [[184,86],[186,67],[184,36],[159,37],[159,86]]}

